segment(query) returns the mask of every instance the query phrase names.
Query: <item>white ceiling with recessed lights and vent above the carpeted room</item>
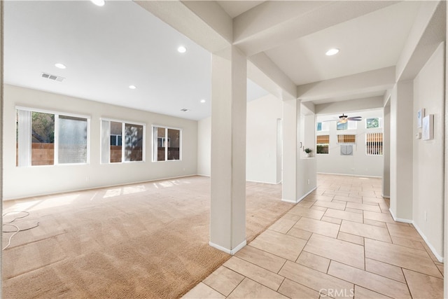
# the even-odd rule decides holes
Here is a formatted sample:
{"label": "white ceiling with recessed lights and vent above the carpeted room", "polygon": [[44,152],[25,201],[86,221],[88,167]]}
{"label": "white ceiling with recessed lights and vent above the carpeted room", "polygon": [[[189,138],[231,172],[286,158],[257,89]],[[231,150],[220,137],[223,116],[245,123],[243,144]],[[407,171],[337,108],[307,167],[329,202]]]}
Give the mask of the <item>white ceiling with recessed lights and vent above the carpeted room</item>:
{"label": "white ceiling with recessed lights and vent above the carpeted room", "polygon": [[[210,53],[132,1],[6,1],[4,39],[5,83],[194,120],[210,114]],[[266,94],[248,81],[248,100]]]}

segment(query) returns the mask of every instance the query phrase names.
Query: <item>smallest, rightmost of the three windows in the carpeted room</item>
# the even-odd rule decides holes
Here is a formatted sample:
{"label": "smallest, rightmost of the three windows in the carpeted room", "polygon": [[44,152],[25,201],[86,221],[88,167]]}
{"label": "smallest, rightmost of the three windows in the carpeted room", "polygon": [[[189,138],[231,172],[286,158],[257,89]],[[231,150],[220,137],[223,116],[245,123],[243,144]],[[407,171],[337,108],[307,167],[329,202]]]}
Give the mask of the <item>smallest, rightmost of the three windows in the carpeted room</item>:
{"label": "smallest, rightmost of the three windows in the carpeted room", "polygon": [[153,127],[153,161],[181,160],[182,131]]}

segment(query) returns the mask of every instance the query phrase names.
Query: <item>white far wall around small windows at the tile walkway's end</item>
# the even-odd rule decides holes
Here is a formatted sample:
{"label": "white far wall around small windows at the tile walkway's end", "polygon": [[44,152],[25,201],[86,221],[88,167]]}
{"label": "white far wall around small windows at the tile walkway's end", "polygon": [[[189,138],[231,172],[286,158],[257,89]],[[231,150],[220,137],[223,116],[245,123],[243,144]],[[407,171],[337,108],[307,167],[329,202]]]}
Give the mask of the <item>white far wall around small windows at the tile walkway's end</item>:
{"label": "white far wall around small windows at the tile walkway's end", "polygon": [[[330,122],[330,131],[319,131],[317,135],[330,134],[328,154],[316,154],[317,172],[327,174],[349,174],[356,176],[383,176],[383,156],[365,154],[365,133],[382,132],[381,129],[366,129],[366,118],[383,118],[382,110],[349,113],[349,116],[362,116],[356,130],[336,130],[336,121]],[[317,121],[323,118],[319,116]],[[356,134],[356,144],[353,145],[353,155],[341,155],[337,145],[337,134]]]}

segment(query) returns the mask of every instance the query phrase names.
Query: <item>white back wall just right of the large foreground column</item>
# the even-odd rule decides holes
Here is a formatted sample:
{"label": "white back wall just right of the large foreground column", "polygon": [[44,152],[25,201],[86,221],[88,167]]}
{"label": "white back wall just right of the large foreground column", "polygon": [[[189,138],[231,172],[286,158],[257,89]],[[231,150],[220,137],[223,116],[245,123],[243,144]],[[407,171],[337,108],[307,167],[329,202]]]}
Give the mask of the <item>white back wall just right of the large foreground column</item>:
{"label": "white back wall just right of the large foreground column", "polygon": [[267,95],[247,103],[246,180],[278,183],[277,120],[281,100]]}

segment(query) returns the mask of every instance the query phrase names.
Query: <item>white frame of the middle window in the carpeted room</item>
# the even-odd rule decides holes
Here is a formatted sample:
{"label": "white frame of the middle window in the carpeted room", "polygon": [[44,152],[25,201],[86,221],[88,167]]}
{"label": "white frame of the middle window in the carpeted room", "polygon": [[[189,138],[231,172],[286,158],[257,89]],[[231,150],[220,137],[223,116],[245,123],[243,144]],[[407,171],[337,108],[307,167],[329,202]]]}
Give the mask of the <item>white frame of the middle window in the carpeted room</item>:
{"label": "white frame of the middle window in the carpeted room", "polygon": [[[108,148],[109,148],[109,161],[103,162],[103,121],[109,122],[109,130],[111,127],[111,122],[113,123],[121,123],[121,161],[120,162],[111,162],[111,134],[109,132],[109,138],[108,138]],[[143,127],[142,132],[142,141],[141,141],[141,160],[137,161],[126,161],[125,160],[125,151],[126,151],[126,138],[125,138],[125,128],[126,125],[141,125]],[[114,136],[120,136],[118,134],[114,134]],[[99,118],[99,164],[103,165],[114,165],[114,164],[121,164],[121,163],[139,163],[139,162],[145,162],[146,160],[146,123],[139,123],[135,121],[128,121],[128,120],[119,120],[116,118]]]}

